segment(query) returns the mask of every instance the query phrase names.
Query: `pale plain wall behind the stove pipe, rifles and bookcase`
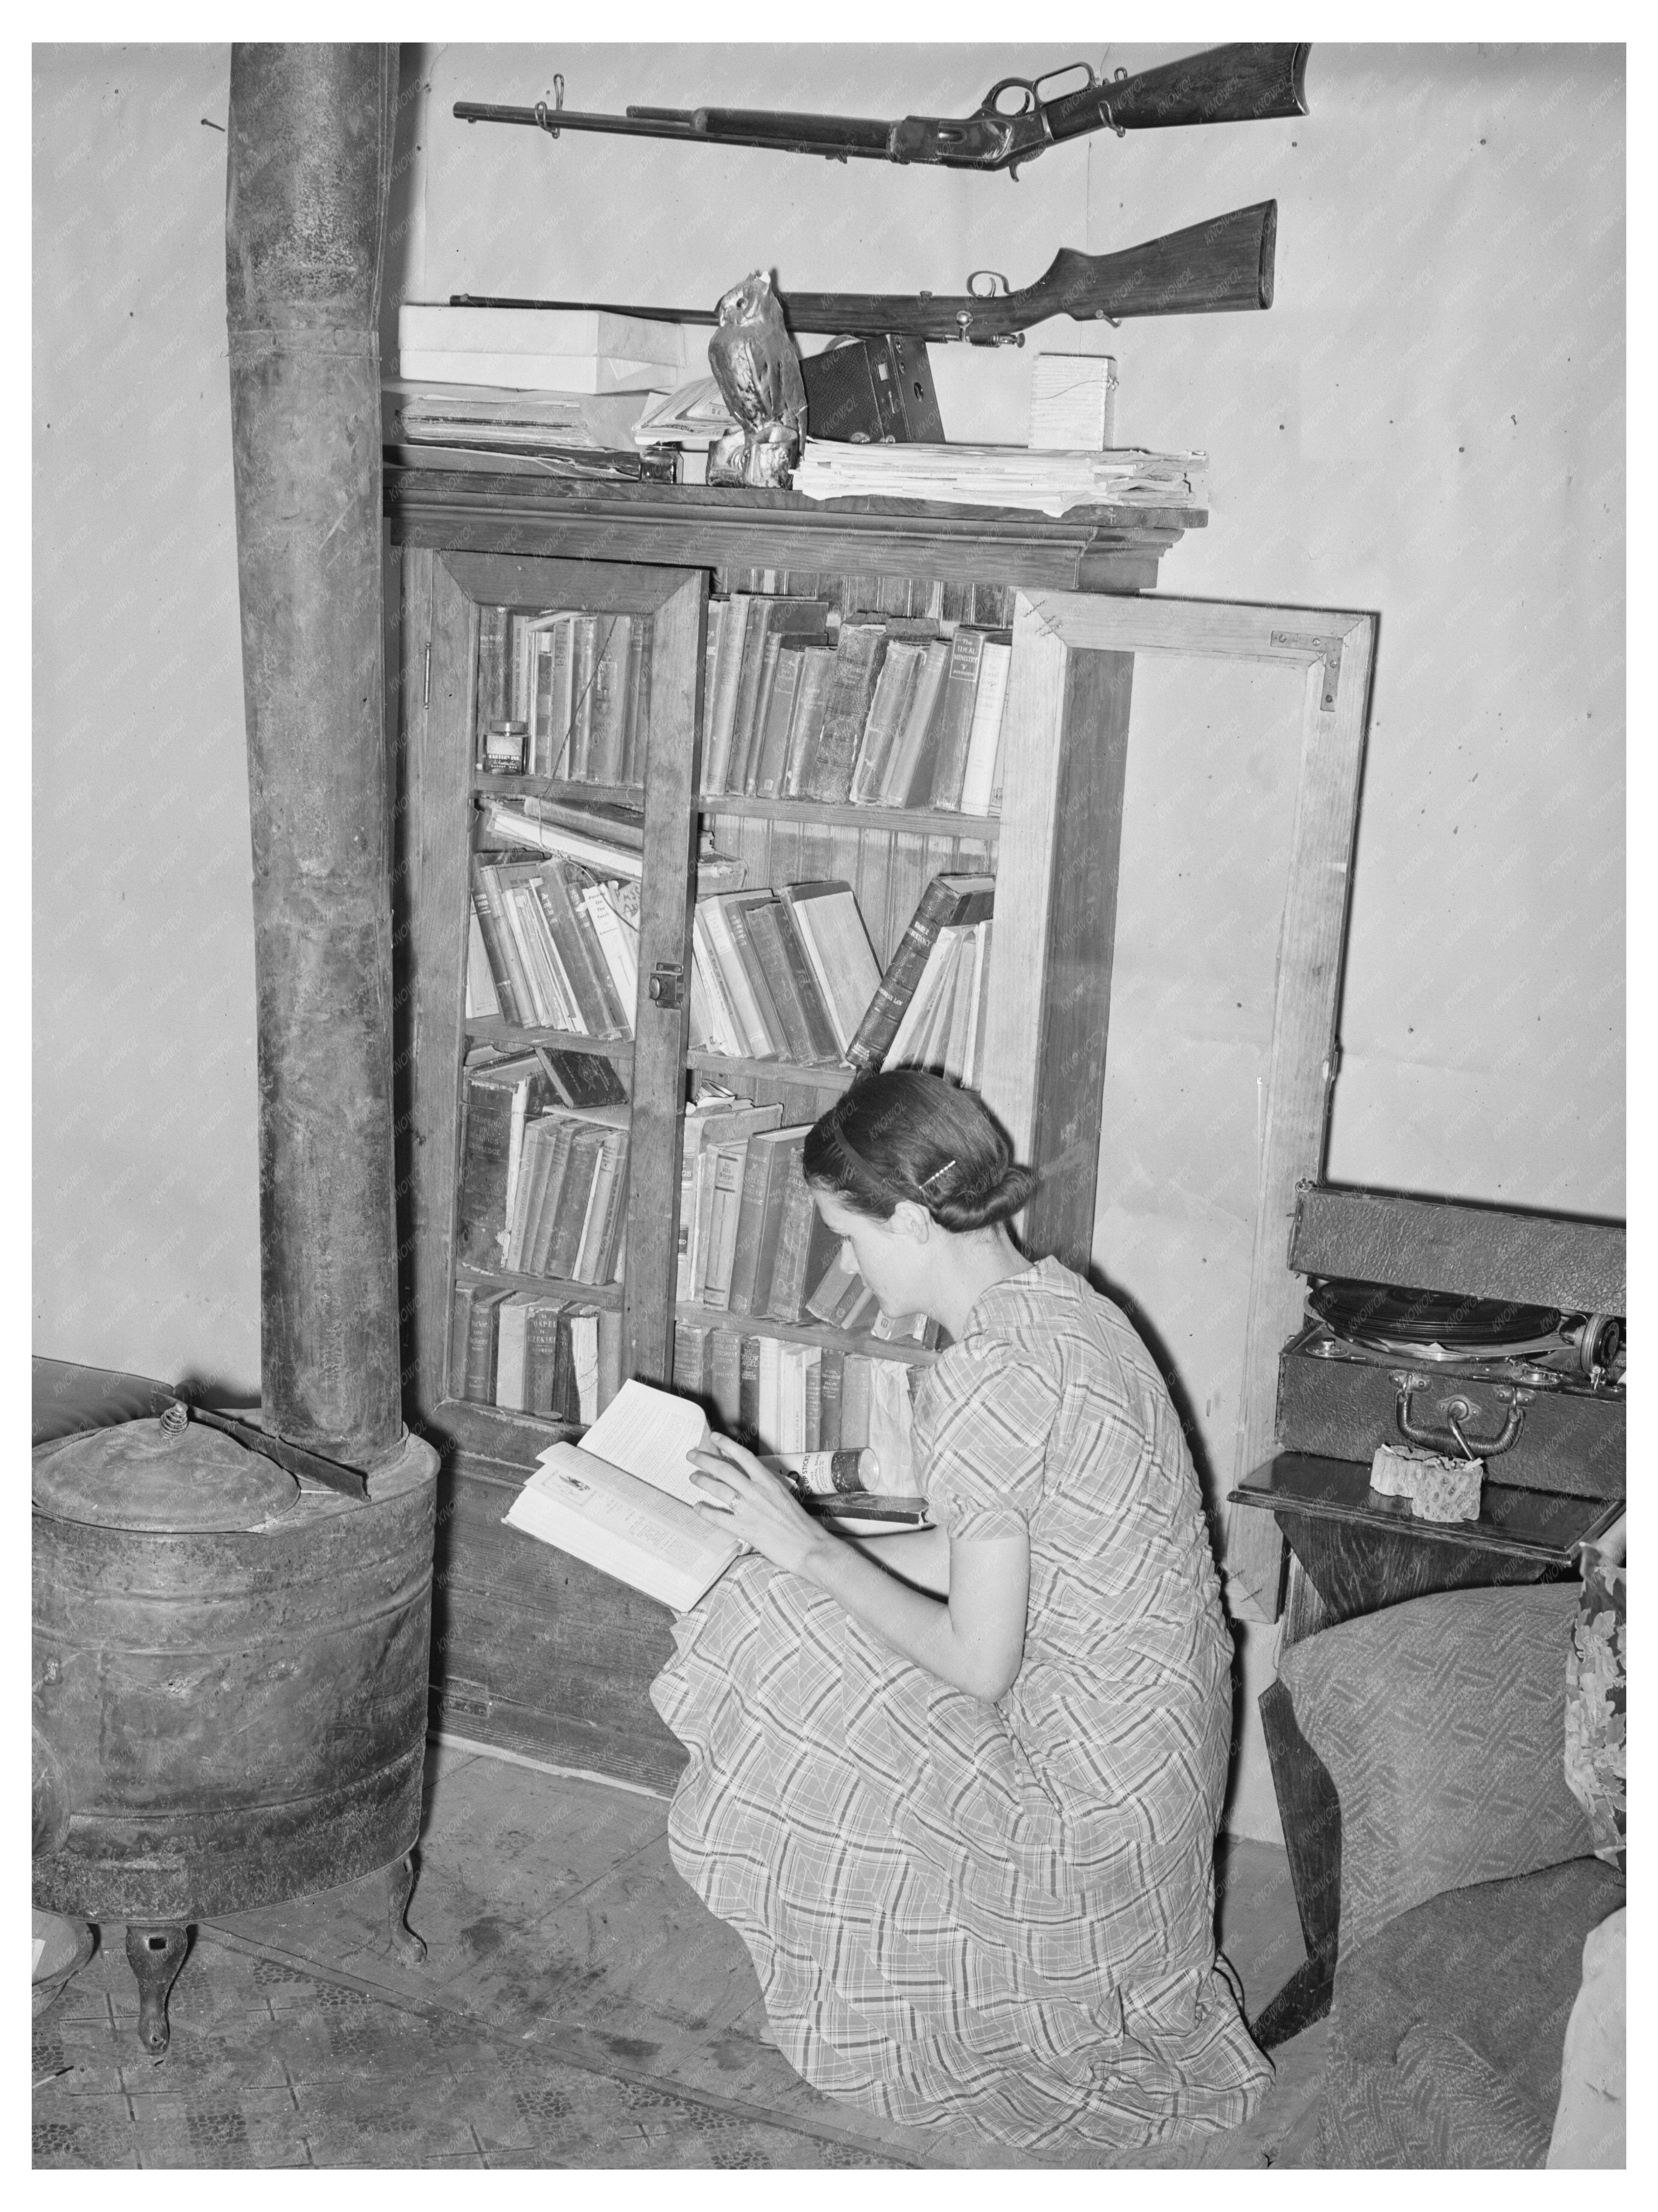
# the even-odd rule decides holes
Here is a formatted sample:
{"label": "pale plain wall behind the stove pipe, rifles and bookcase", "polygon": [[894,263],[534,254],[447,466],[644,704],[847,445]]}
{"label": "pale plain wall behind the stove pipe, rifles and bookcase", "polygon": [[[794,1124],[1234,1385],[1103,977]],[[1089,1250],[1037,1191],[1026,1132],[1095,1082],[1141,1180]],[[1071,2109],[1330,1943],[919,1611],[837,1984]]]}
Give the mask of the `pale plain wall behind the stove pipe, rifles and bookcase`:
{"label": "pale plain wall behind the stove pipe, rifles and bookcase", "polygon": [[[1620,49],[1315,46],[1293,124],[1096,137],[1017,184],[449,115],[550,97],[555,71],[577,108],[964,113],[1074,51],[407,49],[387,327],[398,290],[707,305],[756,265],[785,292],[957,290],[973,268],[1019,285],[1059,246],[1276,197],[1269,314],[935,347],[946,429],[1021,440],[1037,349],[1112,352],[1119,436],[1211,456],[1211,524],[1169,553],[1165,593],[1379,613],[1329,1172],[1620,1214]],[[33,1340],[248,1389],[252,902],[223,137],[203,126],[225,88],[223,46],[35,49]],[[1287,803],[1273,730],[1260,686],[1138,684],[1110,1082],[1132,1095],[1158,1068],[1158,969],[1196,998],[1214,982],[1178,1015],[1209,1110],[1180,1117],[1178,1177],[1156,1088],[1138,1135],[1108,1128],[1096,1263],[1143,1301],[1220,1484],[1276,951],[1258,889]],[[1183,803],[1214,763],[1236,803]],[[1218,843],[1176,869],[1158,825],[1192,845],[1205,823]],[[1236,1009],[1234,971],[1256,987]],[[1267,1666],[1249,1637],[1251,1697]],[[1231,1825],[1276,1829],[1253,1732]]]}

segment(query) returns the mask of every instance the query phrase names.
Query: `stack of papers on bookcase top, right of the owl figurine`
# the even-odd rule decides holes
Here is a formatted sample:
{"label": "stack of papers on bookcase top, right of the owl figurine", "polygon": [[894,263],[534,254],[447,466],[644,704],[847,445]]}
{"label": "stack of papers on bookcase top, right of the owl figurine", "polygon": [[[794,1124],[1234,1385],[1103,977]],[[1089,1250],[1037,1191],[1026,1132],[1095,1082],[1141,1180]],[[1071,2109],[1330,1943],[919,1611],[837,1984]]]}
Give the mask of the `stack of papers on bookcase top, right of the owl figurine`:
{"label": "stack of papers on bookcase top, right of the owl figurine", "polygon": [[1207,453],[1037,453],[1021,445],[831,445],[807,438],[794,489],[814,500],[875,495],[957,507],[1207,507]]}

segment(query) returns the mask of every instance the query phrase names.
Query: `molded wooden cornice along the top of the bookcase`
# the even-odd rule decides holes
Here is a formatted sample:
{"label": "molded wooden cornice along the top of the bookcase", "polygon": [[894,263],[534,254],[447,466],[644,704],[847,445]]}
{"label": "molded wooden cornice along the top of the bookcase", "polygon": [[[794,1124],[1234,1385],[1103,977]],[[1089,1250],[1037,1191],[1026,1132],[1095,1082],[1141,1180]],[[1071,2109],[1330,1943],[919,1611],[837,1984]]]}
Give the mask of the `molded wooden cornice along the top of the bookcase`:
{"label": "molded wooden cornice along the top of the bookcase", "polygon": [[1209,522],[1200,507],[1074,507],[1052,520],[940,500],[807,500],[796,491],[409,467],[387,467],[385,511],[400,546],[1103,593],[1154,591],[1163,553]]}

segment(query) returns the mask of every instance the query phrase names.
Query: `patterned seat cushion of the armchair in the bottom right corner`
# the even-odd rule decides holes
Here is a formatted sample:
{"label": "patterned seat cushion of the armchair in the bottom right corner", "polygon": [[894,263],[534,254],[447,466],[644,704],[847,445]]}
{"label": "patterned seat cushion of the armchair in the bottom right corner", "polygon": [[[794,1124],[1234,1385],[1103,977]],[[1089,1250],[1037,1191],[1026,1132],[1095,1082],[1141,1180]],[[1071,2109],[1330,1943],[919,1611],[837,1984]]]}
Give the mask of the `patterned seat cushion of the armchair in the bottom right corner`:
{"label": "patterned seat cushion of the armchair in the bottom right corner", "polygon": [[1541,2166],[1583,1940],[1623,1880],[1576,1858],[1450,1889],[1335,1966],[1322,2166]]}

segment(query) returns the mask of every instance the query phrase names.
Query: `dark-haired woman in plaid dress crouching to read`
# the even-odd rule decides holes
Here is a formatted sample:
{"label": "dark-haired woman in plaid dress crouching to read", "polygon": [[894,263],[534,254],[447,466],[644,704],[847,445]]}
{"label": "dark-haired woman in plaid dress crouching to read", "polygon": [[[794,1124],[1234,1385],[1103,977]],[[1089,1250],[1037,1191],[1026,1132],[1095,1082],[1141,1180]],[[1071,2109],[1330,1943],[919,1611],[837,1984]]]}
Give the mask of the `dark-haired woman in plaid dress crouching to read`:
{"label": "dark-haired woman in plaid dress crouching to read", "polygon": [[674,1865],[754,1955],[798,2073],[1028,2150],[1178,2141],[1271,2079],[1214,1947],[1231,1644],[1169,1394],[1123,1314],[1008,1221],[973,1093],[900,1068],[805,1175],[920,1385],[935,1526],[827,1533],[732,1442],[705,1513],[752,1546],[674,1624]]}

